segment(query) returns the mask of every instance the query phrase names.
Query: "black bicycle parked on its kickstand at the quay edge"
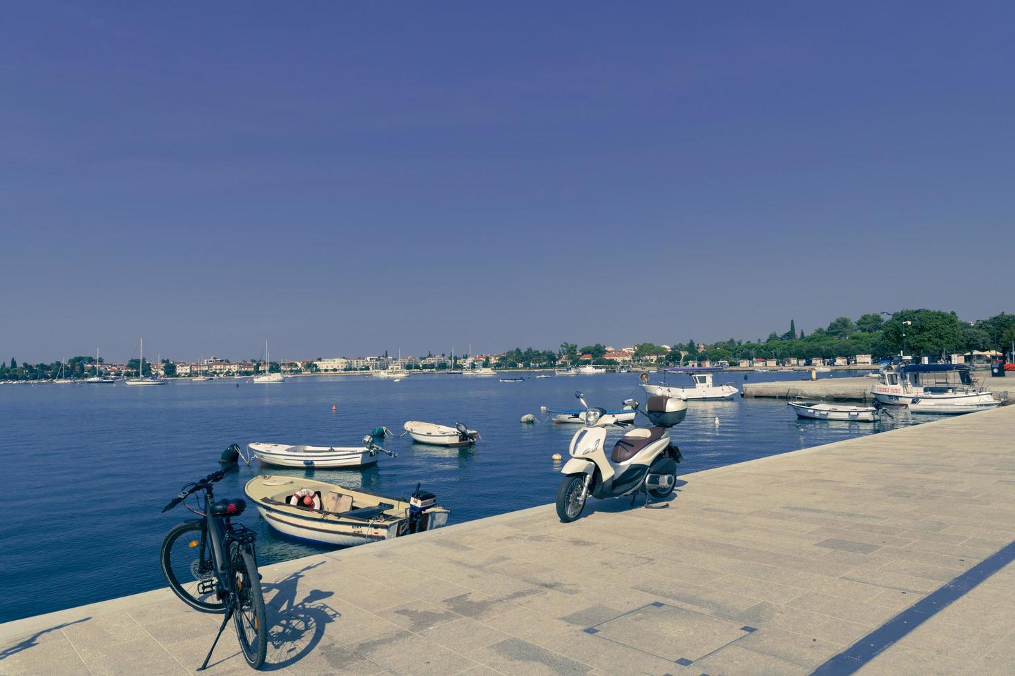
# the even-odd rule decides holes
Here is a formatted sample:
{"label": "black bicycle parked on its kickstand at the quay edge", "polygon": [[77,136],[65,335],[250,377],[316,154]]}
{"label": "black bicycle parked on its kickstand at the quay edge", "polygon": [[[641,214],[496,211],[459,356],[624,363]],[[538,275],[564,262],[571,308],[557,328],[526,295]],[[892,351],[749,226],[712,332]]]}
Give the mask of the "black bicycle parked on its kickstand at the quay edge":
{"label": "black bicycle parked on its kickstand at the quay edge", "polygon": [[[268,650],[264,595],[254,549],[257,534],[231,521],[243,514],[247,507],[245,501],[215,501],[212,484],[224,476],[225,472],[219,470],[186,484],[162,508],[163,513],[168,512],[190,496],[199,494],[196,508],[186,503],[184,507],[201,518],[189,519],[170,530],[162,540],[160,557],[170,589],[184,603],[201,612],[225,614],[198,671],[208,667],[230,617],[247,664],[260,669]],[[203,501],[200,494],[203,494]]]}

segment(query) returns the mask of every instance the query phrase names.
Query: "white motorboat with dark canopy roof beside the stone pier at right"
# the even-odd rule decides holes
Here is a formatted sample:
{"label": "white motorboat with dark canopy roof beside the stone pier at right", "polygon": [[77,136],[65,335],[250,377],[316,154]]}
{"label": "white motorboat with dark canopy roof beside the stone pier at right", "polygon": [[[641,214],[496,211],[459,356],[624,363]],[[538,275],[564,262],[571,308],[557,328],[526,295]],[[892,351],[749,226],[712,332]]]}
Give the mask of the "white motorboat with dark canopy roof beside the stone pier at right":
{"label": "white motorboat with dark canopy roof beside the stone pier at right", "polygon": [[940,402],[990,403],[994,393],[977,387],[964,364],[905,364],[883,369],[871,394],[881,403],[904,406],[916,398]]}

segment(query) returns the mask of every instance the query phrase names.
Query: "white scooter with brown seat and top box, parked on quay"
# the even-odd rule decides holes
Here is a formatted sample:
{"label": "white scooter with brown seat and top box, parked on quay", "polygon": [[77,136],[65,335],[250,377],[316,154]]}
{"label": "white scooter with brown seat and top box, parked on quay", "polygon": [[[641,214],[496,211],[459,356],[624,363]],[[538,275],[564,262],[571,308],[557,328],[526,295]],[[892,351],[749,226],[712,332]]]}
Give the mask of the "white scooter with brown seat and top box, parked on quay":
{"label": "white scooter with brown seat and top box, parked on quay", "polygon": [[[652,428],[635,428],[606,451],[606,430],[602,425],[613,425],[603,408],[591,408],[582,392],[574,392],[586,407],[586,425],[571,439],[568,452],[570,460],[564,464],[563,480],[557,490],[557,516],[563,523],[579,518],[586,500],[604,500],[620,496],[634,496],[644,490],[646,505],[649,496],[658,500],[668,498],[677,483],[677,463],[680,449],[670,443],[667,432],[687,416],[687,402],[668,396],[650,396],[645,411],[635,408],[649,419]],[[632,498],[633,504],[633,498]]]}

